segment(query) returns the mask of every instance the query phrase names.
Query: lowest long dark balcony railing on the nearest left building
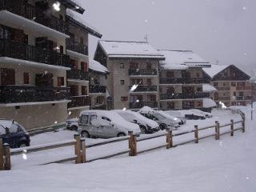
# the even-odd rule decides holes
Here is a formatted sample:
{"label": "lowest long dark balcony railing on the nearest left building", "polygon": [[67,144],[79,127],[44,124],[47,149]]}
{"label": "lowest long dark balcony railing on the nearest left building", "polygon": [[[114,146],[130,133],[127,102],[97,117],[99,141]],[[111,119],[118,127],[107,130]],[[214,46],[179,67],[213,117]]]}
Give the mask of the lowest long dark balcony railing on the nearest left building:
{"label": "lowest long dark balcony railing on the nearest left building", "polygon": [[70,99],[70,88],[0,86],[0,103],[51,102]]}

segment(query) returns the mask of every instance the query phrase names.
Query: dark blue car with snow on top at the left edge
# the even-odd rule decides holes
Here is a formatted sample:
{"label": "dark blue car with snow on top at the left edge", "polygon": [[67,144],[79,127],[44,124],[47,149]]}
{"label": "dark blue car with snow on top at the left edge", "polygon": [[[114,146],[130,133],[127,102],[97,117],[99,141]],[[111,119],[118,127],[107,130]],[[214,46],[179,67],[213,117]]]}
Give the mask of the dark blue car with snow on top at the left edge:
{"label": "dark blue car with snow on top at the left edge", "polygon": [[11,120],[0,120],[0,138],[10,148],[30,146],[30,135],[18,122]]}

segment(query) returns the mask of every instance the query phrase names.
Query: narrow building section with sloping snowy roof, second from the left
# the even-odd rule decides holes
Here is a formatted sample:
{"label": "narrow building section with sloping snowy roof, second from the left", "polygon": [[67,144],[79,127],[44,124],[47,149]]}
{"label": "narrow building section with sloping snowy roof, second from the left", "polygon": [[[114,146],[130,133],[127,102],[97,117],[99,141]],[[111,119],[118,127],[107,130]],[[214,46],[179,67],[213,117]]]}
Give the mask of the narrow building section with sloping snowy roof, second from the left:
{"label": "narrow building section with sloping snowy roof, second from the left", "polygon": [[88,57],[89,34],[102,38],[102,34],[82,19],[82,14],[66,10],[68,34],[66,54],[70,56],[70,68],[67,70],[67,86],[70,87],[71,102],[68,103],[69,118],[76,118],[82,110],[90,109],[90,59]]}

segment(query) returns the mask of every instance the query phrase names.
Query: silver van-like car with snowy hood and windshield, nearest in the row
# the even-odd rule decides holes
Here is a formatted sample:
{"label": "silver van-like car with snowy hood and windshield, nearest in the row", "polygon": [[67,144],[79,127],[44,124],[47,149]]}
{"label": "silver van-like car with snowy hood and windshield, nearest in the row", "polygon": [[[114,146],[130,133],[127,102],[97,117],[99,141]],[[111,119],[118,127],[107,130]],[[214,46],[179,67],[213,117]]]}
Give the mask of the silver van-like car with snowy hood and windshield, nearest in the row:
{"label": "silver van-like car with snowy hood and windshield, nearest in the row", "polygon": [[133,131],[139,136],[137,124],[127,122],[119,114],[109,110],[84,110],[78,121],[78,133],[82,137],[114,138],[128,135]]}

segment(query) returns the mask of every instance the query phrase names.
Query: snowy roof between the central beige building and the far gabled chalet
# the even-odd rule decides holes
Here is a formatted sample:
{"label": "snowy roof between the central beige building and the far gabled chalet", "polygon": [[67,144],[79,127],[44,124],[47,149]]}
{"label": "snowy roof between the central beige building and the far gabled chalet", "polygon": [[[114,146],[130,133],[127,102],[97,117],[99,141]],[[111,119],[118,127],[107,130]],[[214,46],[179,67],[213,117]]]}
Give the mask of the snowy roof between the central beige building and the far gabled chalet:
{"label": "snowy roof between the central beige building and the far gabled chalet", "polygon": [[163,69],[186,70],[194,66],[208,66],[209,62],[191,50],[158,50],[166,60],[160,61]]}

